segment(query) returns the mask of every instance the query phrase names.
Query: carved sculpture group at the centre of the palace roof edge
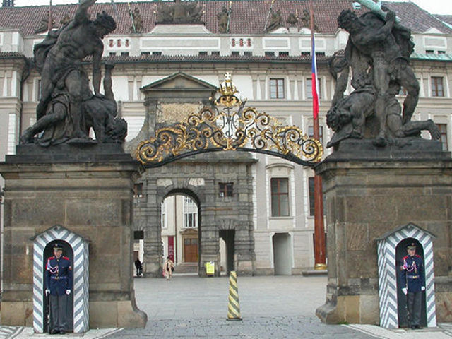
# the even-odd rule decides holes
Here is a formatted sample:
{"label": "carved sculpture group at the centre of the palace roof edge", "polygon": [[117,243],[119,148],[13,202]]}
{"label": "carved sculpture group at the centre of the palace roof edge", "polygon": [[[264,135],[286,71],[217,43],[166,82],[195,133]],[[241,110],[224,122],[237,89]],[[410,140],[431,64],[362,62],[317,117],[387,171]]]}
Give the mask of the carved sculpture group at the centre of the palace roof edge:
{"label": "carved sculpture group at the centre of the palace roof edge", "polygon": [[174,4],[165,4],[159,8],[157,23],[201,23],[202,8],[195,1],[182,3],[174,0]]}

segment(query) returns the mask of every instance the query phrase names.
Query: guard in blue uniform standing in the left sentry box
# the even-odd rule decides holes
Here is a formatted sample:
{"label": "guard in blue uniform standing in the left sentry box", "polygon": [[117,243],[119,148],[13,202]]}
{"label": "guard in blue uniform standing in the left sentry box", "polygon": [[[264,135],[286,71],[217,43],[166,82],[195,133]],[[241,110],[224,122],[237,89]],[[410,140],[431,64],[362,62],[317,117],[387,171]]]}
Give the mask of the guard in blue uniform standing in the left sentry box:
{"label": "guard in blue uniform standing in the left sentry box", "polygon": [[45,294],[50,297],[50,334],[64,334],[67,326],[68,296],[72,290],[72,266],[63,249],[54,244],[54,256],[47,259]]}

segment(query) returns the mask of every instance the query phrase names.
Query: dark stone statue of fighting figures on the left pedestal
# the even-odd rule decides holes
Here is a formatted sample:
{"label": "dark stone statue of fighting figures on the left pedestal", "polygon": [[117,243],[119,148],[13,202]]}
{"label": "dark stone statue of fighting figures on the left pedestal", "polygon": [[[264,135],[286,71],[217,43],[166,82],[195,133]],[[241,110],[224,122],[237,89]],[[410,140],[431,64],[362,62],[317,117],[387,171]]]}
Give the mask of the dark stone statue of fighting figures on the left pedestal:
{"label": "dark stone statue of fighting figures on the left pedestal", "polygon": [[[116,23],[105,12],[90,20],[87,11],[95,1],[82,1],[73,20],[57,31],[49,31],[45,40],[35,46],[42,93],[36,107],[37,122],[24,131],[21,143],[48,146],[88,141],[91,128],[99,143],[124,141],[127,124],[116,118],[117,104],[112,92],[114,65],[105,65],[105,95],[100,93],[102,38],[116,29]],[[88,56],[93,59],[94,94],[82,66]],[[34,138],[40,132],[42,135]]]}

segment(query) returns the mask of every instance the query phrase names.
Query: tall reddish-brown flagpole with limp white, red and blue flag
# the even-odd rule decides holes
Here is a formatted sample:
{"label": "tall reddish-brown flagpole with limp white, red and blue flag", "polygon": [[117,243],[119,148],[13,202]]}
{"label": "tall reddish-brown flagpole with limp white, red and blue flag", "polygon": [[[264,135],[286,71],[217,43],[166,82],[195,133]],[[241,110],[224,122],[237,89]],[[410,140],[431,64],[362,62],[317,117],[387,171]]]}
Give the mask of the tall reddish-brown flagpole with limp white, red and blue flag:
{"label": "tall reddish-brown flagpole with limp white, red and blue flag", "polygon": [[[309,1],[311,16],[311,42],[312,42],[312,102],[314,120],[314,138],[319,140],[319,96],[317,93],[316,50],[314,44],[314,6]],[[322,178],[314,174],[314,269],[326,270],[325,228],[323,227],[323,194]]]}

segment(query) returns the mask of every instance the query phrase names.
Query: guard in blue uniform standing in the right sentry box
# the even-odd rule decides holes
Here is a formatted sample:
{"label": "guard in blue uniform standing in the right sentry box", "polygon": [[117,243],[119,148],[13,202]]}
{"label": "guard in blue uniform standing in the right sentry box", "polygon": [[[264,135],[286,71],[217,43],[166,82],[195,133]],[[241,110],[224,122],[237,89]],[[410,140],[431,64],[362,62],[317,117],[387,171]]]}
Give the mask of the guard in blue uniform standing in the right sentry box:
{"label": "guard in blue uniform standing in the right sentry box", "polygon": [[403,258],[402,273],[400,274],[400,286],[407,295],[408,324],[414,330],[420,326],[422,291],[425,290],[424,263],[416,254],[416,245],[407,246],[408,256]]}

